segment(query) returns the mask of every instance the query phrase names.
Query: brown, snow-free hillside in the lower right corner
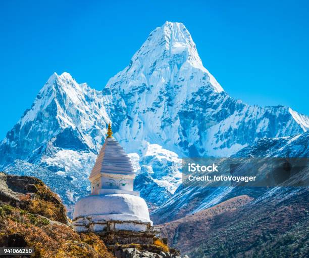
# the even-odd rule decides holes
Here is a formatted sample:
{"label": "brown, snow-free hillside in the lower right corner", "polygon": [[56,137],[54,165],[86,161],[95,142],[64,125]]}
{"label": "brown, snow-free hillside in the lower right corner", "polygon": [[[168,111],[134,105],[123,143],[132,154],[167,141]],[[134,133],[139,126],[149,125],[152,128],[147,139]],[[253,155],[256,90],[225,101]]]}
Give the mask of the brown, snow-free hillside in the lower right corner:
{"label": "brown, snow-free hillside in the lower right corner", "polygon": [[162,231],[190,257],[307,257],[309,192],[282,195],[255,201],[238,196],[163,224]]}

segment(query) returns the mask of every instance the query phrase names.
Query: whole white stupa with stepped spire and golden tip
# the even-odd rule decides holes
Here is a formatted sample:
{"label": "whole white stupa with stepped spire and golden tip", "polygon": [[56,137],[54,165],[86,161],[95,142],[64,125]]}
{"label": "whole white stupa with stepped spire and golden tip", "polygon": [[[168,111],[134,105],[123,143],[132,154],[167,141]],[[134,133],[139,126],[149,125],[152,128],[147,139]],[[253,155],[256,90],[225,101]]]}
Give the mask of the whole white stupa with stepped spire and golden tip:
{"label": "whole white stupa with stepped spire and golden tip", "polygon": [[133,191],[135,172],[130,158],[113,138],[108,137],[97,156],[89,180],[91,194],[78,200],[73,227],[78,232],[151,231],[148,207]]}

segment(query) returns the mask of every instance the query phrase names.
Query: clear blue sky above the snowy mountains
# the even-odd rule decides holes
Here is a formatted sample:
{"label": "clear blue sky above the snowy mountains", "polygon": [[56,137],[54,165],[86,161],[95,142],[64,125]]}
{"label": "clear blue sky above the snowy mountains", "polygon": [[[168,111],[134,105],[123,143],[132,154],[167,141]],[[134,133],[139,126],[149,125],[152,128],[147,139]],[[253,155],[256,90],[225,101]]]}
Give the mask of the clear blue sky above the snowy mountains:
{"label": "clear blue sky above the snowy mountains", "polygon": [[109,2],[0,2],[1,139],[53,72],[100,90],[166,20],[232,97],[309,115],[308,1]]}

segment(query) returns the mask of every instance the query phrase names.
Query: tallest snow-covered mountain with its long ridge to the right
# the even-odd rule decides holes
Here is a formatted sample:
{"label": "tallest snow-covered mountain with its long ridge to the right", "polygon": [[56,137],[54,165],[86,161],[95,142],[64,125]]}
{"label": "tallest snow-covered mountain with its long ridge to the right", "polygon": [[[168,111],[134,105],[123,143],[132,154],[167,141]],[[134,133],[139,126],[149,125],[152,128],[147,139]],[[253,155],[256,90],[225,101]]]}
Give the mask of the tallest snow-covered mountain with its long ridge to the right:
{"label": "tallest snow-covered mountain with its long ridge to the right", "polygon": [[302,133],[308,119],[231,98],[202,66],[182,23],[153,30],[103,94],[128,152],[147,141],[180,156],[230,156],[260,137]]}

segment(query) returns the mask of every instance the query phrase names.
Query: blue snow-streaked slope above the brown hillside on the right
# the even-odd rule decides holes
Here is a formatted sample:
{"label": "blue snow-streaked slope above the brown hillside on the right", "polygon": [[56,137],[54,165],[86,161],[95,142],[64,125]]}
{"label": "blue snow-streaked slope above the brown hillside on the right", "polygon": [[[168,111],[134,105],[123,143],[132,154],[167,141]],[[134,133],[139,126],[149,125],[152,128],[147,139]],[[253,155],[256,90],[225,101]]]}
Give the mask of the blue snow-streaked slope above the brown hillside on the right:
{"label": "blue snow-streaked slope above the brown hillside on the right", "polygon": [[[282,138],[263,138],[256,141],[252,146],[243,148],[237,152],[237,157],[290,157],[307,158],[309,157],[309,132],[301,135],[282,137]],[[261,162],[256,160],[257,165]],[[259,163],[260,162],[260,163]],[[307,162],[307,161],[306,161]],[[302,178],[300,176],[302,175]],[[298,174],[298,179],[307,180],[308,173],[302,171]],[[292,178],[291,178],[292,180]],[[198,187],[181,185],[175,194],[159,208],[151,211],[151,218],[156,223],[164,223],[182,218],[188,214],[196,213],[205,208],[212,207],[222,201],[228,200],[239,195],[248,195],[253,198],[270,198],[273,194],[279,195],[282,188],[264,187]],[[293,187],[289,189],[293,195]]]}

